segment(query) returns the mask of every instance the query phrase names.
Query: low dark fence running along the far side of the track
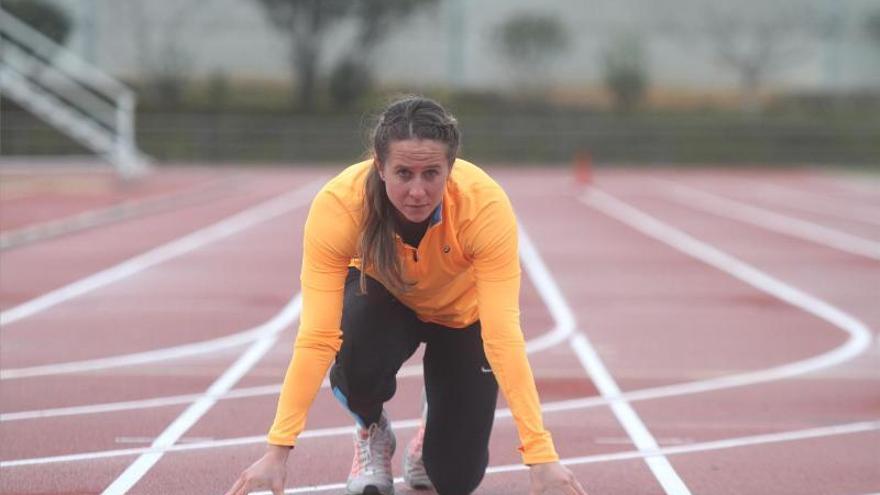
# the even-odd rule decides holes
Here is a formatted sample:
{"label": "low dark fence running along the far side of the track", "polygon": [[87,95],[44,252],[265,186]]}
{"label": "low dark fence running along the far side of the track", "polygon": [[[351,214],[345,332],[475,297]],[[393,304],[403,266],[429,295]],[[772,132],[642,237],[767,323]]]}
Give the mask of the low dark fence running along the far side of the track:
{"label": "low dark fence running along the far side of the track", "polygon": [[[744,116],[549,113],[460,115],[463,155],[480,162],[808,163],[880,168],[880,122],[778,121]],[[159,160],[350,162],[361,156],[361,117],[284,114],[142,114],[138,142]],[[6,108],[7,155],[75,153],[76,145]]]}

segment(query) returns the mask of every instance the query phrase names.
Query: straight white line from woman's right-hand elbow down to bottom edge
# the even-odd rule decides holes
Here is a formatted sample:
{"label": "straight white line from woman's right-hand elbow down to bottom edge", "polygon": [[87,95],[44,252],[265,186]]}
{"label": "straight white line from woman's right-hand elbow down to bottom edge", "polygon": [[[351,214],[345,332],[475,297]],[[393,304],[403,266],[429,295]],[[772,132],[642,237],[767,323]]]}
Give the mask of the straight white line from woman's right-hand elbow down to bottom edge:
{"label": "straight white line from woman's right-hand elbow down to bottom edge", "polygon": [[[560,326],[567,327],[567,335],[569,335],[570,339],[569,344],[577,355],[581,366],[587,372],[587,376],[596,385],[599,394],[603,398],[619,398],[621,396],[620,387],[617,385],[614,377],[611,376],[611,372],[608,371],[605,363],[602,362],[602,358],[599,357],[595,347],[593,347],[584,333],[573,334],[576,321],[574,311],[572,311],[565,295],[559,289],[559,285],[544,264],[537,248],[535,248],[531,238],[529,238],[529,235],[522,226],[520,226],[520,250],[522,251],[523,260],[527,260],[527,264],[532,266],[532,270],[538,275],[533,278],[535,287],[537,287],[542,298],[545,298],[545,301],[549,303],[548,306],[551,308],[551,314],[554,319],[560,322]],[[657,451],[659,448],[657,441],[628,402],[625,400],[615,400],[610,402],[610,406],[617,421],[640,452]],[[690,495],[691,491],[685,485],[684,480],[681,479],[664,455],[648,455],[645,456],[644,460],[651,473],[654,474],[654,477],[660,483],[660,486],[663,487],[663,491],[668,494]]]}

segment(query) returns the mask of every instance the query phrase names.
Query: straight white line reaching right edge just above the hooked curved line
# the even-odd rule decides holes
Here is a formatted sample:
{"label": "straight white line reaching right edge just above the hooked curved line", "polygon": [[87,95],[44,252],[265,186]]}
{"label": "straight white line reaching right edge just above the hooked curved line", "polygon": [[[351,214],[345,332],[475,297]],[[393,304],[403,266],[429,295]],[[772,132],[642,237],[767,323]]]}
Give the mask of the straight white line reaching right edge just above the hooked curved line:
{"label": "straight white line reaching right edge just above the hooked curved line", "polygon": [[658,184],[667,186],[657,189],[658,192],[688,208],[708,211],[718,216],[781,232],[846,253],[880,260],[880,242],[717,196],[677,182],[665,179],[654,180]]}

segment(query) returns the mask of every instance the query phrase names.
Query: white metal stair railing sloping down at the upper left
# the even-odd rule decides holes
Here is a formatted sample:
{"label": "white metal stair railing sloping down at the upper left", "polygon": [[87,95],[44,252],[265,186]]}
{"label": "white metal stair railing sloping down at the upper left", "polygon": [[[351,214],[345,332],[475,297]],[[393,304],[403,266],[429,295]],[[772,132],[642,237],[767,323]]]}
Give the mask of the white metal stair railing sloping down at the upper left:
{"label": "white metal stair railing sloping down at the upper left", "polygon": [[104,156],[125,177],[149,159],[135,143],[135,94],[0,8],[4,95]]}

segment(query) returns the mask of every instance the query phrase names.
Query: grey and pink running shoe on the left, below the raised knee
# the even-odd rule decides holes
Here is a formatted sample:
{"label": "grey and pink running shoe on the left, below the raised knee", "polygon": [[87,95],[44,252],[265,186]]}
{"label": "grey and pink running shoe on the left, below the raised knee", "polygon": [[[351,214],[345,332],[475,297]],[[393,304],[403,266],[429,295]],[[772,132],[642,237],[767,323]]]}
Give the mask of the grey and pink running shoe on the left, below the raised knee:
{"label": "grey and pink running shoe on the left, below the raised knee", "polygon": [[345,486],[346,495],[394,495],[391,458],[397,440],[385,412],[369,428],[355,427],[354,460]]}

